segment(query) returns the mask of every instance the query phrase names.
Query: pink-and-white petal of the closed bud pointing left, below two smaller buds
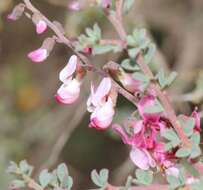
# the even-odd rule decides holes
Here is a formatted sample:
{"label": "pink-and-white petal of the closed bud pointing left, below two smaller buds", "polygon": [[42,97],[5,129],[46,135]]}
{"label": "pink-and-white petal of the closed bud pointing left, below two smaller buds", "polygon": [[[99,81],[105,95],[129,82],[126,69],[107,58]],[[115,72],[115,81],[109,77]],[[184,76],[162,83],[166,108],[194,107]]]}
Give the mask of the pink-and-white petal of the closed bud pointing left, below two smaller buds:
{"label": "pink-and-white petal of the closed bud pointing left, below two smaller buds", "polygon": [[30,58],[33,62],[42,62],[46,60],[48,57],[48,52],[46,49],[37,49],[28,54],[28,58]]}

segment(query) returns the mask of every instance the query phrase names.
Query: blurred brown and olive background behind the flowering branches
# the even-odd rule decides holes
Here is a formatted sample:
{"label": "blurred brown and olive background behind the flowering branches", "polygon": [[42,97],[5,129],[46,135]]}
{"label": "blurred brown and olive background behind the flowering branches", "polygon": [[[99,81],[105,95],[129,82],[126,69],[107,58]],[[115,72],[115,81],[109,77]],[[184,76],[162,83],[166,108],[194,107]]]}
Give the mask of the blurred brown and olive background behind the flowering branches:
{"label": "blurred brown and olive background behind the flowering branches", "polygon": [[[33,64],[26,55],[41,46],[51,31],[38,36],[26,17],[10,22],[6,19],[17,0],[0,0],[0,187],[7,189],[10,176],[5,172],[10,160],[27,159],[35,166],[35,175],[43,168],[53,169],[67,163],[74,177],[74,189],[93,187],[92,169],[109,168],[111,179],[121,184],[134,170],[128,159],[128,147],[111,130],[89,129],[86,100],[90,80],[86,77],[79,101],[70,106],[56,103],[60,86],[58,74],[71,52],[59,44],[41,64]],[[73,12],[68,0],[33,0],[51,20],[60,21],[66,34],[77,37],[86,26],[99,23],[106,38],[116,38],[112,26],[99,9]],[[177,113],[190,114],[195,106],[203,113],[203,1],[136,0],[124,19],[128,32],[146,27],[157,44],[153,69],[177,71],[178,78],[169,89]],[[121,54],[91,58],[102,66],[108,60],[120,62]],[[119,97],[116,122],[133,112],[134,107]],[[203,115],[203,114],[202,114]]]}

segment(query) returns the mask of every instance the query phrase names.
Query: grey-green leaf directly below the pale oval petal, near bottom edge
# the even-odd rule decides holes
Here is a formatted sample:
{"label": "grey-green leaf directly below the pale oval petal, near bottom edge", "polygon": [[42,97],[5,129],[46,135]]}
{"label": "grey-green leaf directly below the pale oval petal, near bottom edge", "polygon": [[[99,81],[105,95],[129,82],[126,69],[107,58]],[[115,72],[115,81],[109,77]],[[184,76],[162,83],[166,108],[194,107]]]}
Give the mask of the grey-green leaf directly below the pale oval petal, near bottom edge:
{"label": "grey-green leaf directly below the pale oval petal, near bottom edge", "polygon": [[137,178],[137,183],[142,184],[142,185],[150,185],[153,181],[153,172],[152,171],[145,171],[141,169],[136,170],[136,178]]}

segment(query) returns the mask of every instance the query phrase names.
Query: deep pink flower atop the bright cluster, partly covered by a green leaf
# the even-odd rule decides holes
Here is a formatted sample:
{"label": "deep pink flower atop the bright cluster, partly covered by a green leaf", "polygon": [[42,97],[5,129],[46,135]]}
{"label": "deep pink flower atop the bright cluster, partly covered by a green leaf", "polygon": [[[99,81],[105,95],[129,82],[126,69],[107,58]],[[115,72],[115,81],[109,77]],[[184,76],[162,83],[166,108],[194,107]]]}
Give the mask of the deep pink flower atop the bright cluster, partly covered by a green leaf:
{"label": "deep pink flower atop the bright cluster, partly covered by a green leaf", "polygon": [[147,108],[155,106],[156,98],[154,96],[144,96],[138,103],[138,111],[145,121],[157,122],[160,119],[161,112],[148,113]]}

